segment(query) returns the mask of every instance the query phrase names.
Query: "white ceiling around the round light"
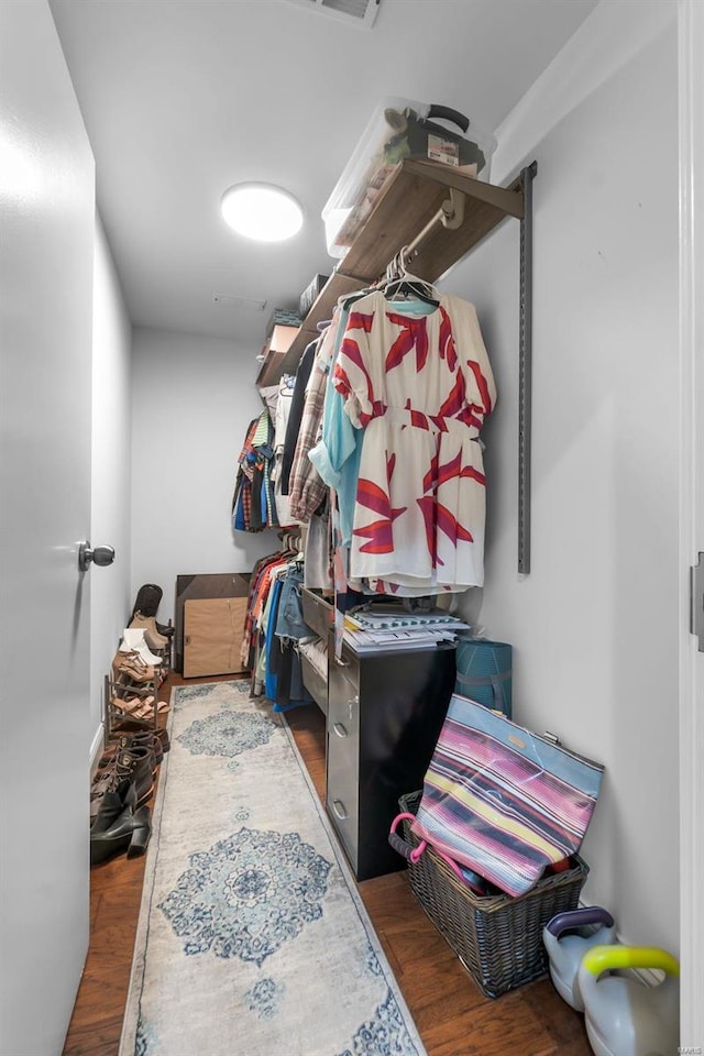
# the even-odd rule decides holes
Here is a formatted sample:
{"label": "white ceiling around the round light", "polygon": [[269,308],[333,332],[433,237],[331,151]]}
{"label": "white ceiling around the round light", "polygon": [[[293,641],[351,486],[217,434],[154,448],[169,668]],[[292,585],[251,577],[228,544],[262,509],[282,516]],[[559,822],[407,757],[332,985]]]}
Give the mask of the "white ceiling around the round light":
{"label": "white ceiling around the round light", "polygon": [[[258,348],[334,263],[320,212],[375,108],[439,102],[492,132],[595,6],[381,0],[370,31],[288,0],[51,0],[133,323]],[[244,180],[290,190],[301,234],[226,228],[220,196]]]}

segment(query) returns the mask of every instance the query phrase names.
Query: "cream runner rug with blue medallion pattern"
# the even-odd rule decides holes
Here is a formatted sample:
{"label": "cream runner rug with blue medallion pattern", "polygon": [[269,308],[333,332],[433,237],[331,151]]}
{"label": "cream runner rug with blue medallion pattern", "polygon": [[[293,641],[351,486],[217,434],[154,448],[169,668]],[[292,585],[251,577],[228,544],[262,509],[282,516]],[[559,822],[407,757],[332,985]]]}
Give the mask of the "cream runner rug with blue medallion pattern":
{"label": "cream runner rug with blue medallion pattern", "polygon": [[424,1056],[286,723],[215,682],[169,733],[120,1056]]}

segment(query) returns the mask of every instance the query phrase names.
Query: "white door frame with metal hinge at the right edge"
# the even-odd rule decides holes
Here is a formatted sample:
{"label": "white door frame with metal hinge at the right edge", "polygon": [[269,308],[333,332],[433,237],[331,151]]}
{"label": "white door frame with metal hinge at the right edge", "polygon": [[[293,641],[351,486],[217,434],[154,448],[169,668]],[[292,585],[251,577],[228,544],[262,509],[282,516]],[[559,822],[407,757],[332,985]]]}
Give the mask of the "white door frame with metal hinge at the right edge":
{"label": "white door frame with metal hinge at the right edge", "polygon": [[[680,0],[680,909],[682,1053],[704,1053],[704,7]],[[701,570],[704,576],[704,569]],[[691,634],[690,603],[700,637]],[[694,615],[694,614],[692,614]]]}

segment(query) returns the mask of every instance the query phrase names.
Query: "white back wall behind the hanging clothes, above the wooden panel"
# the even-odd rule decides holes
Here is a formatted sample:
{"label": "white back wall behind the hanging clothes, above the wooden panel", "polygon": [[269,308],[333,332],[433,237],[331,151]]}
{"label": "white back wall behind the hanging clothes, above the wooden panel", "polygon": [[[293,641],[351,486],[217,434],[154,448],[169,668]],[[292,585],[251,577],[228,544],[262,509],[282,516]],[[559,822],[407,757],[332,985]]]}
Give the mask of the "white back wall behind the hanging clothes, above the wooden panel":
{"label": "white back wall behind the hanging clothes, above the wooden panel", "polygon": [[255,354],[234,341],[135,329],[132,367],[132,595],[176,576],[249,572],[276,550],[275,531],[233,532],[237,460],[263,404]]}

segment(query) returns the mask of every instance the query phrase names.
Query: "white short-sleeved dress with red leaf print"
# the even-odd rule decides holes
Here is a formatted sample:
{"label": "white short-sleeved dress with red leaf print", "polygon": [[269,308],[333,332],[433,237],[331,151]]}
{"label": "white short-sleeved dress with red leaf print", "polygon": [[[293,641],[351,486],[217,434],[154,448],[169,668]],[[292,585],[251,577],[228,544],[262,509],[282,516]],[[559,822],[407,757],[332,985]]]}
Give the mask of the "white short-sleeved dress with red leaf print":
{"label": "white short-sleeved dress with red leaf print", "polygon": [[473,305],[413,315],[382,292],[350,311],[332,382],[364,430],[350,585],[414,596],[484,582],[480,430],[496,402]]}

